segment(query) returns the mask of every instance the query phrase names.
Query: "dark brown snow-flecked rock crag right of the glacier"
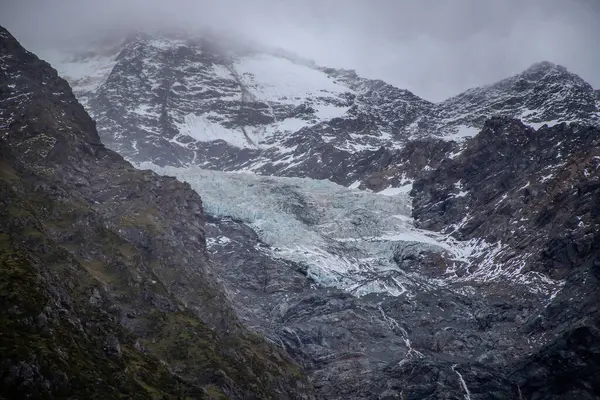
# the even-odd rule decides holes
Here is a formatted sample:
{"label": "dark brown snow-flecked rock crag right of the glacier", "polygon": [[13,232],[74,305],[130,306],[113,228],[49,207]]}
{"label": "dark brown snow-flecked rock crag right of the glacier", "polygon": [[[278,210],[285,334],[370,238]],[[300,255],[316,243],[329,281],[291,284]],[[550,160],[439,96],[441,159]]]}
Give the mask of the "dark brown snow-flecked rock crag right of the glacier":
{"label": "dark brown snow-flecked rock crag right of the glacier", "polygon": [[563,279],[596,251],[600,130],[496,118],[414,185],[420,227],[501,243],[504,269]]}

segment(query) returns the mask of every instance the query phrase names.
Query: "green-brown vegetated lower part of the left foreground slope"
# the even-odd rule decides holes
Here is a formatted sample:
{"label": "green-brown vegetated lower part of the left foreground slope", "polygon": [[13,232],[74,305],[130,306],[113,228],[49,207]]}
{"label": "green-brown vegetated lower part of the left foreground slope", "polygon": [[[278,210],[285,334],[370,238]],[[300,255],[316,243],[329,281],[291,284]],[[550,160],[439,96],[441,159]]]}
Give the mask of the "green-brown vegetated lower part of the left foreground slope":
{"label": "green-brown vegetated lower part of the left foreground slope", "polygon": [[218,335],[175,301],[83,202],[2,164],[0,398],[268,399],[288,396],[279,381],[304,385],[262,338]]}

